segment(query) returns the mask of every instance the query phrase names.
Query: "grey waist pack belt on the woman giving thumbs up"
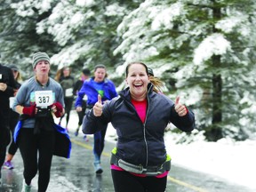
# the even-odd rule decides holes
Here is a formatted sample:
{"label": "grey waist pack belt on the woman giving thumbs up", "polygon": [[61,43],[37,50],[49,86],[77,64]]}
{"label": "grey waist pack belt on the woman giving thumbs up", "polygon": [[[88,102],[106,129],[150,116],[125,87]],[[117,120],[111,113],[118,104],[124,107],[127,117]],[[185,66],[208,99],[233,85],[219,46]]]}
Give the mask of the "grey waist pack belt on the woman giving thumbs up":
{"label": "grey waist pack belt on the woman giving thumbs up", "polygon": [[120,168],[124,169],[126,172],[146,174],[148,176],[156,176],[158,174],[162,174],[166,171],[171,170],[171,157],[167,156],[164,164],[143,167],[141,164],[136,165],[125,162],[123,159],[120,159],[118,156],[112,153],[110,164],[115,164],[116,166],[119,166]]}

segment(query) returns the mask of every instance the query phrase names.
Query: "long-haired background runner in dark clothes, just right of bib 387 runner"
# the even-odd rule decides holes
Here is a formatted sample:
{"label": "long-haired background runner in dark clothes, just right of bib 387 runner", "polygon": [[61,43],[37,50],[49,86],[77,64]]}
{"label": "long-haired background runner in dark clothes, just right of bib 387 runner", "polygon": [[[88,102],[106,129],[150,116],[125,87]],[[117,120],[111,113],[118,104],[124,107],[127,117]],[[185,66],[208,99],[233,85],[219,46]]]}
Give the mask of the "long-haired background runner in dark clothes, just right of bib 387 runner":
{"label": "long-haired background runner in dark clothes, just right of bib 387 runner", "polygon": [[[64,102],[65,102],[64,116],[66,115],[66,130],[68,131],[70,111],[73,107],[73,101],[74,101],[73,89],[74,89],[74,83],[75,83],[74,77],[71,76],[71,68],[69,67],[60,68],[60,70],[57,71],[55,80],[60,83],[64,92]],[[59,124],[61,124],[62,118],[64,116],[60,117]]]}

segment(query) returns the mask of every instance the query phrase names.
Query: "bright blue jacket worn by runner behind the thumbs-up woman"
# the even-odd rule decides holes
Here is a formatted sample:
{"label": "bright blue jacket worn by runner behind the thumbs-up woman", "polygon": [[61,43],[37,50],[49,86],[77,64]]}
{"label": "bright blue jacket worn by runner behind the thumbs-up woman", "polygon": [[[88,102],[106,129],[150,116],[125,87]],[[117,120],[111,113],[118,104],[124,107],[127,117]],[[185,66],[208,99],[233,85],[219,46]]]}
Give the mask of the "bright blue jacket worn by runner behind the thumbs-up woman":
{"label": "bright blue jacket worn by runner behind the thumbs-up woman", "polygon": [[[75,103],[76,107],[82,107],[84,94],[87,95],[87,98],[88,98],[87,105],[88,106],[93,106],[98,101],[99,92],[93,86],[93,83],[92,83],[93,79],[94,79],[94,77],[84,81],[82,88],[80,89],[80,91],[77,94],[76,103]],[[104,80],[103,92],[104,92],[104,96],[101,98],[102,101],[112,100],[113,98],[115,98],[117,96],[116,86],[109,79]]]}

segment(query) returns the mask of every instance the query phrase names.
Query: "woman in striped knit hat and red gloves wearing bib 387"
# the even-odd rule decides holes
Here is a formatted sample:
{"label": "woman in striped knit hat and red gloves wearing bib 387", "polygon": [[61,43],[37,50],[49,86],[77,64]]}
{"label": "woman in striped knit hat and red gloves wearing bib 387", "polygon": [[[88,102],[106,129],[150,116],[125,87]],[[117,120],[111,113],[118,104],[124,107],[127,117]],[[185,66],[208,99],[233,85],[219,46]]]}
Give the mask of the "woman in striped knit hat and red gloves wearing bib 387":
{"label": "woman in striped knit hat and red gloves wearing bib 387", "polygon": [[37,191],[44,192],[50,181],[52,156],[60,146],[52,115],[64,115],[64,98],[60,84],[49,76],[47,53],[36,52],[32,67],[35,76],[21,84],[12,106],[21,123],[15,128],[14,140],[24,165],[22,191],[31,191],[31,181],[38,172]]}

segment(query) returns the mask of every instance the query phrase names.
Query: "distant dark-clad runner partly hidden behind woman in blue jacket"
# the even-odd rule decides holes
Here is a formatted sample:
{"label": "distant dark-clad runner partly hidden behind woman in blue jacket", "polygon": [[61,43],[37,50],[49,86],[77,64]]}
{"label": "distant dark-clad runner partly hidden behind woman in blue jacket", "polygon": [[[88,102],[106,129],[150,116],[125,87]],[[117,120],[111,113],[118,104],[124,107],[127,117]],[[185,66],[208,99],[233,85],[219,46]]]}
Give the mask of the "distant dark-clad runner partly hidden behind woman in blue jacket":
{"label": "distant dark-clad runner partly hidden behind woman in blue jacket", "polygon": [[[78,92],[80,91],[80,89],[82,88],[84,81],[86,81],[89,77],[90,77],[90,70],[88,68],[84,68],[82,70],[82,74],[80,76],[80,79],[78,79],[74,85],[74,89],[73,89],[73,94],[77,96]],[[87,95],[84,94],[84,98],[82,100],[82,111],[77,111],[77,115],[78,115],[78,126],[76,128],[76,132],[75,132],[75,136],[78,135],[79,130],[80,130],[80,126],[83,124],[83,118],[84,118],[84,114],[85,114],[85,109],[86,109],[86,102],[87,102]],[[86,137],[86,134],[84,134],[84,140],[88,141],[88,138]]]}

